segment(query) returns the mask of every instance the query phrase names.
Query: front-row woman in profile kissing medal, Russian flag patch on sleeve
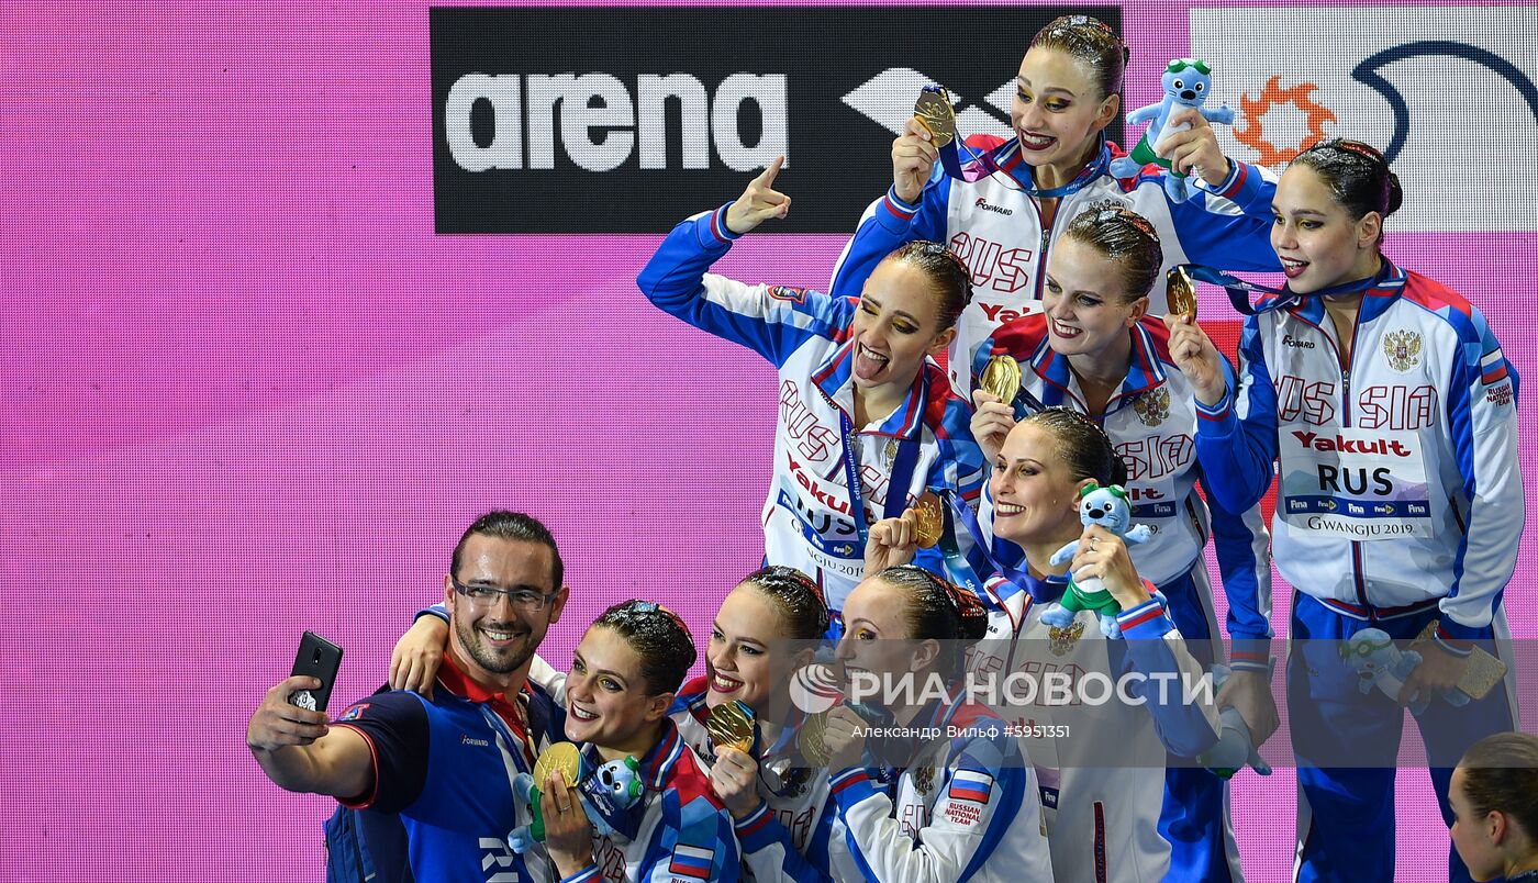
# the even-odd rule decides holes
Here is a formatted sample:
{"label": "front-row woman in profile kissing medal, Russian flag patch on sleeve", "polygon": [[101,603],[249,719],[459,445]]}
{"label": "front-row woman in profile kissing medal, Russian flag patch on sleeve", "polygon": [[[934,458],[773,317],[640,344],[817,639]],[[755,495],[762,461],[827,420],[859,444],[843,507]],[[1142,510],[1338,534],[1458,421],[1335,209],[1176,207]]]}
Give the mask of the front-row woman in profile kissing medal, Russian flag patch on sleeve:
{"label": "front-row woman in profile kissing medal, Russian flag patch on sleeve", "polygon": [[[820,718],[829,798],[804,857],[778,848],[781,877],[1052,880],[1035,769],[964,689],[964,652],[986,632],[986,611],[907,565],[855,586],[844,623],[835,655],[855,680]],[[749,861],[786,837],[772,818],[738,832]]]}

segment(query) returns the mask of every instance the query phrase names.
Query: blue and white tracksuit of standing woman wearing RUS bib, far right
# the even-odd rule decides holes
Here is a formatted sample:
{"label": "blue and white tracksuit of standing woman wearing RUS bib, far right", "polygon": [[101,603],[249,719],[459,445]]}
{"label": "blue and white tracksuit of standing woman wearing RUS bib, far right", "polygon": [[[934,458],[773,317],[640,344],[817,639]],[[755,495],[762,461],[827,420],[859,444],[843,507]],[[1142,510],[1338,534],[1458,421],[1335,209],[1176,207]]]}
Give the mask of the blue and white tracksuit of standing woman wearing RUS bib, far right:
{"label": "blue and white tracksuit of standing woman wearing RUS bib, far right", "polygon": [[[1526,517],[1516,372],[1484,317],[1384,263],[1343,360],[1318,298],[1253,315],[1241,382],[1203,408],[1197,454],[1226,506],[1257,500],[1280,461],[1277,568],[1298,594],[1287,718],[1298,755],[1295,878],[1393,877],[1395,757],[1404,712],[1363,695],[1338,641],[1366,628],[1410,640],[1432,620],[1453,654],[1509,638],[1501,594]],[[1507,731],[1510,678],[1481,700],[1416,717],[1443,818],[1452,766]],[[1455,852],[1449,878],[1469,880]]]}

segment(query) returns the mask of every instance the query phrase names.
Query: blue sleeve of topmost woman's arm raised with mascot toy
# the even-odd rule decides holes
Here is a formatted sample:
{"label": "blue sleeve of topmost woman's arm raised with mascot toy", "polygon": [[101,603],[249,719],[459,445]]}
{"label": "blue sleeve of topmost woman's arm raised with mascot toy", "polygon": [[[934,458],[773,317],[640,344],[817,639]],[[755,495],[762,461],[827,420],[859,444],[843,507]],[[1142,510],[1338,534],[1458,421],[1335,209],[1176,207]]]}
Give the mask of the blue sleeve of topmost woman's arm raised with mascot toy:
{"label": "blue sleeve of topmost woman's arm raised with mascot toy", "polygon": [[[1209,188],[1193,178],[1200,195],[1183,203],[1169,202],[1180,246],[1193,263],[1220,269],[1281,269],[1270,248],[1270,200],[1277,195],[1277,178],[1260,166],[1238,160],[1230,165],[1233,169],[1221,186]],[[1150,178],[1163,189],[1163,174],[1141,175],[1138,186]]]}

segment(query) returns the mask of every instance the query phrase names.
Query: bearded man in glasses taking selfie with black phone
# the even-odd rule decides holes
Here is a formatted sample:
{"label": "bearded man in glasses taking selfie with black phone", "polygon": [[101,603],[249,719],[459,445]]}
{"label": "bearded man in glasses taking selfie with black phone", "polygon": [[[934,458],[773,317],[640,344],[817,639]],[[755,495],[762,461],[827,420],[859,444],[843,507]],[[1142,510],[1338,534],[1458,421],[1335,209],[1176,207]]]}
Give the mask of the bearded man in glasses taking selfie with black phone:
{"label": "bearded man in glasses taking selfie with black phone", "polygon": [[[548,877],[543,851],[517,855],[504,838],[529,823],[512,795],[514,775],[531,772],[551,741],[564,741],[564,714],[528,677],[566,597],[544,525],[489,512],[460,537],[443,577],[452,637],[431,697],[380,692],[328,726],[325,712],[288,701],[318,686],[315,678],[291,677],[268,691],[246,745],[288,791],[326,794],[374,811],[371,818],[398,814],[417,880]],[[408,869],[380,871],[389,875],[377,878],[398,880]]]}

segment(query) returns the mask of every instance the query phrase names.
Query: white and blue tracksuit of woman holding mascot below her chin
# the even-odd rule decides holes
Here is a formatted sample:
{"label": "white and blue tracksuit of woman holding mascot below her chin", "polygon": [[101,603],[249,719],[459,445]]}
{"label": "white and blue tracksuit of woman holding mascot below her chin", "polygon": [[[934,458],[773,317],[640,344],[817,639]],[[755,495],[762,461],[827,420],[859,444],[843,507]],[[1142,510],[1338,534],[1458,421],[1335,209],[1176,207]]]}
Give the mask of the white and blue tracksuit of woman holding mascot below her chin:
{"label": "white and blue tracksuit of woman holding mascot below her chin", "polygon": [[[1186,878],[1170,868],[1170,843],[1158,823],[1166,752],[1195,757],[1218,738],[1210,700],[1186,701],[1184,683],[1201,681],[1201,663],[1157,597],[1121,611],[1121,638],[1106,640],[1090,611],[1063,629],[1041,621],[1041,612],[1063,597],[1066,577],[1020,574],[1020,580],[1024,585],[987,581],[987,637],[967,654],[967,672],[975,680],[1074,681],[1066,701],[1043,689],[1030,701],[1012,701],[1006,714],[1037,769],[1057,878]],[[1143,705],[1083,701],[1100,694],[1087,686],[1080,692],[1090,675],[1126,678],[1126,695],[1141,697]]]}

